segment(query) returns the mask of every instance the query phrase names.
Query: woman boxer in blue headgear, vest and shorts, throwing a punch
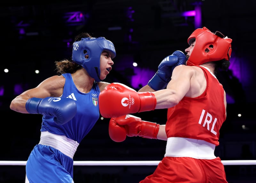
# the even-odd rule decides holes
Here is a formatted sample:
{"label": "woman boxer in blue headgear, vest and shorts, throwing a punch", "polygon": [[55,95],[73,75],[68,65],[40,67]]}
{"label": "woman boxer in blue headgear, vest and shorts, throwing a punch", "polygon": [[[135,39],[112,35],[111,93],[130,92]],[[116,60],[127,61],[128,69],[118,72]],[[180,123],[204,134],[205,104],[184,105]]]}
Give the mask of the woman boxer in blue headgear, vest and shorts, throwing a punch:
{"label": "woman boxer in blue headgear, vest and shorts, throwing a punch", "polygon": [[[166,87],[171,67],[187,60],[182,52],[173,54],[176,55],[161,62],[152,78],[152,88]],[[47,78],[12,100],[10,108],[14,111],[43,115],[40,141],[26,164],[30,183],[74,182],[73,156],[99,119],[98,97],[110,84],[102,80],[111,71],[115,56],[111,41],[79,34],[73,43],[72,60],[55,63],[59,75]]]}

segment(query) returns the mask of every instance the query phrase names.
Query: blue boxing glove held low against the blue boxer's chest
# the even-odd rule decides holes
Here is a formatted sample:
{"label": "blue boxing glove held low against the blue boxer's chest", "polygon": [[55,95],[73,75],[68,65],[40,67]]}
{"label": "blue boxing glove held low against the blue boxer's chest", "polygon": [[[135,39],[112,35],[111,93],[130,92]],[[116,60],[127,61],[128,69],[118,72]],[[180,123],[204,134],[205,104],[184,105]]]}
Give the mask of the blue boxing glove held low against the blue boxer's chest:
{"label": "blue boxing glove held low against the blue boxer's chest", "polygon": [[57,125],[64,125],[76,115],[76,102],[70,98],[30,98],[26,102],[30,114],[54,116]]}

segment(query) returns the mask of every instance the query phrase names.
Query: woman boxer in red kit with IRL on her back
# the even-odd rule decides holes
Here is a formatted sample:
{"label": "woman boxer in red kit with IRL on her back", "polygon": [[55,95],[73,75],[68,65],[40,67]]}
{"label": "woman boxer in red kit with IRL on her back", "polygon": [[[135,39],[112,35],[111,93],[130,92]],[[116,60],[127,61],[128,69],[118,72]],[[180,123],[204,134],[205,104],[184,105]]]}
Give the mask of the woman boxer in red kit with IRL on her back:
{"label": "woman boxer in red kit with IRL on her back", "polygon": [[[218,31],[196,29],[188,37],[186,65],[173,69],[166,89],[156,91],[150,80],[138,92],[112,83],[100,93],[100,112],[111,118],[112,140],[124,141],[126,136],[167,140],[164,158],[140,183],[227,183],[220,157],[214,155],[226,119],[226,93],[214,74],[228,69],[231,42]],[[165,125],[130,115],[165,108]]]}

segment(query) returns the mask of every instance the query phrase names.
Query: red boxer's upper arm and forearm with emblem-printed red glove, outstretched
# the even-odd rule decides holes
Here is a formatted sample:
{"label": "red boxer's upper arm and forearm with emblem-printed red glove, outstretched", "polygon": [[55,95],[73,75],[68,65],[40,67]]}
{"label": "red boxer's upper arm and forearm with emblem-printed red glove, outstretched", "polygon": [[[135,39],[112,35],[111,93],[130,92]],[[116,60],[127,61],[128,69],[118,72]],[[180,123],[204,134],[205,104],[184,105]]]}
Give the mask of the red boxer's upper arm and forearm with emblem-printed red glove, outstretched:
{"label": "red boxer's upper arm and forearm with emblem-printed red glove, outstretched", "polygon": [[100,93],[100,113],[105,118],[175,106],[187,94],[193,75],[191,66],[178,65],[166,89],[136,92],[120,83],[111,83]]}

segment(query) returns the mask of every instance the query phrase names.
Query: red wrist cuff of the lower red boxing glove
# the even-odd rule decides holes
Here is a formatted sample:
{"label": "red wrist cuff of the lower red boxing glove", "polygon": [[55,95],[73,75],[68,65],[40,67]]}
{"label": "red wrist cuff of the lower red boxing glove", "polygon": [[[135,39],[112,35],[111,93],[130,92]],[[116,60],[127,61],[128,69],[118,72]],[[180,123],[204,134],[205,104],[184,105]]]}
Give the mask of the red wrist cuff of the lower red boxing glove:
{"label": "red wrist cuff of the lower red boxing glove", "polygon": [[142,121],[142,127],[140,136],[148,139],[157,139],[157,133],[159,131],[159,124]]}

